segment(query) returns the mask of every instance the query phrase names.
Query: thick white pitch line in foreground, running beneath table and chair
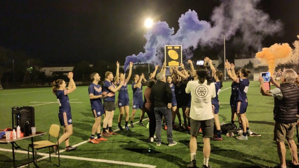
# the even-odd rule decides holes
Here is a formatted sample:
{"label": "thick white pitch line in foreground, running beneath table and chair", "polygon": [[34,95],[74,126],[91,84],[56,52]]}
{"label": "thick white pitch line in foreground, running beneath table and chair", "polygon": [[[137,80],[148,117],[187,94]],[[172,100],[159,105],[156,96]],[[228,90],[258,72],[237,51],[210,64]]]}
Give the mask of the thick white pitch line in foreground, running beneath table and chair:
{"label": "thick white pitch line in foreground, running beneath table and chair", "polygon": [[[6,152],[12,152],[11,149],[3,149],[0,148],[0,151],[6,151]],[[24,153],[28,154],[26,151],[16,151],[17,153]],[[32,155],[31,152],[29,152],[30,155]],[[37,159],[37,161],[40,161],[42,159],[48,158],[49,154],[47,153],[40,153],[38,152],[37,155],[42,155],[44,157]],[[58,155],[51,154],[52,157],[57,157]],[[129,165],[129,166],[136,166],[136,167],[148,167],[148,168],[155,168],[154,165],[149,164],[139,164],[139,163],[131,163],[131,162],[122,162],[122,161],[111,161],[111,160],[104,160],[104,159],[91,159],[91,158],[83,158],[83,157],[76,157],[76,156],[67,156],[67,155],[60,155],[60,158],[67,158],[67,159],[75,159],[75,160],[83,160],[83,161],[93,161],[93,162],[103,162],[103,163],[109,163],[109,164],[122,164],[122,165]],[[27,165],[24,165],[22,167],[26,167]]]}

